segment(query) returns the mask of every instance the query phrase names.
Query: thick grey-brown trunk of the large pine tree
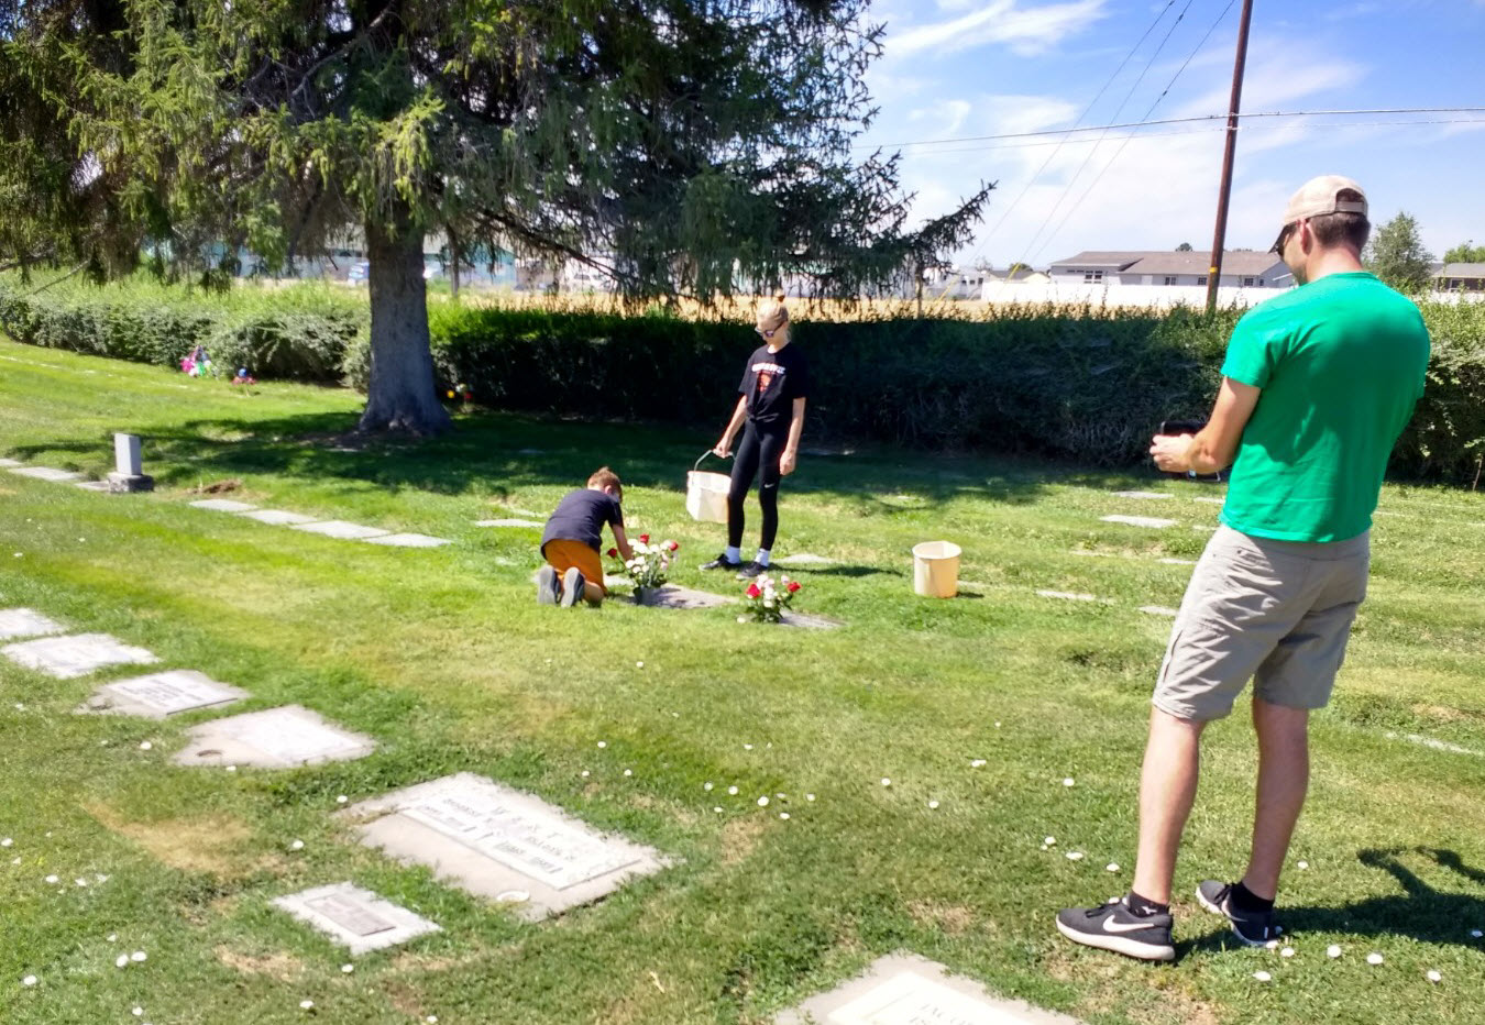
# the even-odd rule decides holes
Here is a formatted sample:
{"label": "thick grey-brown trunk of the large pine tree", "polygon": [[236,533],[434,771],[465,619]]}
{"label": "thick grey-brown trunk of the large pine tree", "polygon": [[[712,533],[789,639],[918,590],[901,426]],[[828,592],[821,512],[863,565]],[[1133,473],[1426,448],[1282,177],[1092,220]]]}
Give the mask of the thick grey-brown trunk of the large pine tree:
{"label": "thick grey-brown trunk of the large pine tree", "polygon": [[434,382],[423,233],[408,224],[401,206],[392,220],[392,224],[367,221],[371,382],[358,429],[443,434],[451,420]]}

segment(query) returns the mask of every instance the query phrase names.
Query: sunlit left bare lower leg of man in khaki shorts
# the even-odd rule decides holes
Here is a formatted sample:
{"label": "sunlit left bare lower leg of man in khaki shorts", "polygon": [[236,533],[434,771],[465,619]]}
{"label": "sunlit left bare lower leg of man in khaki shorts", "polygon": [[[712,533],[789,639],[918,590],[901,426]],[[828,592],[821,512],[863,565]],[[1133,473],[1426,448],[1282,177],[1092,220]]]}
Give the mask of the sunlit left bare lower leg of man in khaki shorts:
{"label": "sunlit left bare lower leg of man in khaki shorts", "polygon": [[1139,775],[1139,857],[1135,893],[1157,905],[1170,903],[1176,850],[1191,816],[1201,771],[1204,722],[1149,710],[1149,741]]}

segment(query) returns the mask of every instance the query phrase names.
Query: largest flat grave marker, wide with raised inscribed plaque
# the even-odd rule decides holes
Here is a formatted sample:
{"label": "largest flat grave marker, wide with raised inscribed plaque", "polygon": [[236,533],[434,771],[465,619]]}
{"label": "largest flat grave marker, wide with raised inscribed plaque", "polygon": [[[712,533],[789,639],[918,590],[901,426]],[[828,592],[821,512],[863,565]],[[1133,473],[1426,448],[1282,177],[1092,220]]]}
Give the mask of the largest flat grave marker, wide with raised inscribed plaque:
{"label": "largest flat grave marker, wide with raised inscribed plaque", "polygon": [[622,836],[597,833],[561,810],[472,772],[362,801],[342,813],[362,842],[426,865],[469,893],[536,921],[597,900],[670,865]]}

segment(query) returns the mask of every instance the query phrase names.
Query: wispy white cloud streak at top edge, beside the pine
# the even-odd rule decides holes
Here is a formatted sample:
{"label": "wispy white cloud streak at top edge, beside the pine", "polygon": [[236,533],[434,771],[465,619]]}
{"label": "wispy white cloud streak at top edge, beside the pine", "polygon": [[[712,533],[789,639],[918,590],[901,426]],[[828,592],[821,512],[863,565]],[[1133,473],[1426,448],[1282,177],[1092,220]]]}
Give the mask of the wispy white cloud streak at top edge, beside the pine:
{"label": "wispy white cloud streak at top edge, beside the pine", "polygon": [[1022,7],[1017,0],[992,0],[961,18],[916,25],[901,34],[888,30],[887,55],[941,55],[990,43],[1005,43],[1020,55],[1040,53],[1097,21],[1103,6],[1105,0],[1069,0],[1041,7]]}

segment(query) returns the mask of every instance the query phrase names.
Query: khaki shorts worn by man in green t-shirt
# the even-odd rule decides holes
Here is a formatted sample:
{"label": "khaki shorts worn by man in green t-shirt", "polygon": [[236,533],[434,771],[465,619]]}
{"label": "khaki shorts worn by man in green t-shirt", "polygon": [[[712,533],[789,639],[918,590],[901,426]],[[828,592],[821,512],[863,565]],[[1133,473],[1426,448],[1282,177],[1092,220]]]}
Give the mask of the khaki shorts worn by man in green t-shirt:
{"label": "khaki shorts worn by man in green t-shirt", "polygon": [[1270,704],[1323,709],[1369,564],[1369,533],[1307,544],[1218,527],[1170,631],[1155,707],[1178,719],[1221,719],[1252,677],[1253,694]]}

